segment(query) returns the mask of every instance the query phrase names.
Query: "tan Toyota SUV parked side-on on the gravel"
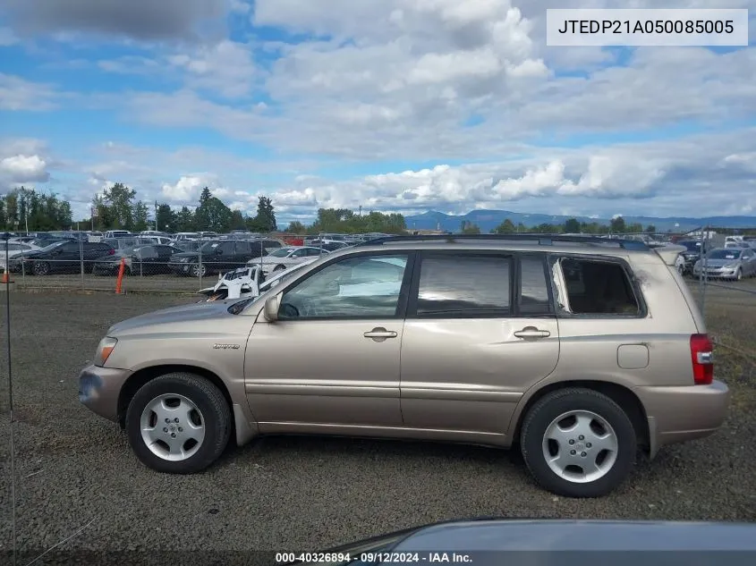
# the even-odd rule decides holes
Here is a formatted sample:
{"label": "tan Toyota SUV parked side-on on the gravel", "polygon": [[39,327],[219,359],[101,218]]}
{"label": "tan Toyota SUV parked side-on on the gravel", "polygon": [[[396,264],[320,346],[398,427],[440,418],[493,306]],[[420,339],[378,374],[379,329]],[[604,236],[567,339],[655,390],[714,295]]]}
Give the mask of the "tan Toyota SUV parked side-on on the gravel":
{"label": "tan Toyota SUV parked side-on on the gravel", "polygon": [[150,468],[229,437],[519,444],[541,486],[598,496],[714,433],[729,392],[679,247],[557,236],[400,237],[328,254],[256,300],[114,325],[80,399]]}

